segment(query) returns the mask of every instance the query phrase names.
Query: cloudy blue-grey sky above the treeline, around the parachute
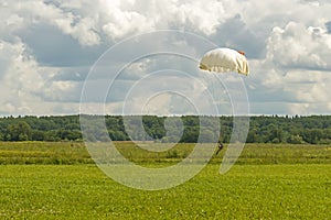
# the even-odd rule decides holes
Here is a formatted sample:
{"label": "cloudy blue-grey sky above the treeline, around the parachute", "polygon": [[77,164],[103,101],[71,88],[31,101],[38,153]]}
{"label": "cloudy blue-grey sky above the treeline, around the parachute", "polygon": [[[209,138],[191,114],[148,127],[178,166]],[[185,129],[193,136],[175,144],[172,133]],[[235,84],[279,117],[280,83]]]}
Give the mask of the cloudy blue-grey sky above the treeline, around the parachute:
{"label": "cloudy blue-grey sky above the treeline, around the parachute", "polygon": [[[0,116],[330,114],[329,0],[0,0]],[[201,73],[213,47],[250,74]]]}

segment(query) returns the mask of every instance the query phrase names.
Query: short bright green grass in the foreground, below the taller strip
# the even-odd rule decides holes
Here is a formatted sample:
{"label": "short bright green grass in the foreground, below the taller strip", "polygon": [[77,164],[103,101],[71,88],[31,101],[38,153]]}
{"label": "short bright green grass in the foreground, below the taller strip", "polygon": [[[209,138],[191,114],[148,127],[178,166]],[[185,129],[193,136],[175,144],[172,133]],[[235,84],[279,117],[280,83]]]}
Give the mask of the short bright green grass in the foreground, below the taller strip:
{"label": "short bright green grass in the foreground, below the taller strip", "polygon": [[159,191],[121,186],[94,165],[4,165],[0,219],[330,219],[331,165],[210,164]]}

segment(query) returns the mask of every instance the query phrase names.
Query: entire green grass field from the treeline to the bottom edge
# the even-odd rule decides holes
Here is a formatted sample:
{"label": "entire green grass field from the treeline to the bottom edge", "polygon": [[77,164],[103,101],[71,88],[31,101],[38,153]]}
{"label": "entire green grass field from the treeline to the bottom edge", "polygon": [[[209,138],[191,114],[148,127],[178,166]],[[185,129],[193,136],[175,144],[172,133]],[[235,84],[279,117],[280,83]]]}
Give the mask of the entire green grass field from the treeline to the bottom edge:
{"label": "entire green grass field from the treeline to the bottom edge", "polygon": [[[151,165],[192,145],[157,157],[118,147]],[[183,185],[143,191],[104,175],[82,143],[0,143],[0,219],[331,219],[330,155],[327,145],[253,144],[225,175],[218,155]]]}

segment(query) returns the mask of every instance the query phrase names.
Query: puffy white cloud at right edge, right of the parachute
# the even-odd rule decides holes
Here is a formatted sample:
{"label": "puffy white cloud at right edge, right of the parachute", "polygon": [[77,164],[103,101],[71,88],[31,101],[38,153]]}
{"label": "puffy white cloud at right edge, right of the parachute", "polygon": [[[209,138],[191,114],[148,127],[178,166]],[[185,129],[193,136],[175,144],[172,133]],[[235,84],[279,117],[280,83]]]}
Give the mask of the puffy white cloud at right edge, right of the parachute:
{"label": "puffy white cloud at right edge, right of the parachute", "polygon": [[269,62],[289,68],[331,67],[331,35],[323,28],[289,22],[274,28],[268,38]]}

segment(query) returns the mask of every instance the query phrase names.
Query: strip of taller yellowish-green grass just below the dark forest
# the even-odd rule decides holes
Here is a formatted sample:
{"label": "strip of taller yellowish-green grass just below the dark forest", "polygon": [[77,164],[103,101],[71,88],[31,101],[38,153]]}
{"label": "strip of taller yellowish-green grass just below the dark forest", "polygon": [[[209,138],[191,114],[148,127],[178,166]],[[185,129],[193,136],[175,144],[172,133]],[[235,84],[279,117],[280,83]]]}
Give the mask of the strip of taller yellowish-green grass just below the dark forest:
{"label": "strip of taller yellowish-green grass just below the dark forest", "polygon": [[[161,145],[161,143],[159,143]],[[151,152],[131,142],[115,142],[124,156],[139,164],[178,163],[194,144],[177,144],[166,152]],[[211,163],[220,164],[225,148]],[[216,146],[215,146],[216,148]],[[94,164],[81,142],[0,142],[0,164]],[[330,145],[246,144],[236,164],[331,164]]]}

